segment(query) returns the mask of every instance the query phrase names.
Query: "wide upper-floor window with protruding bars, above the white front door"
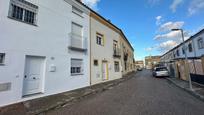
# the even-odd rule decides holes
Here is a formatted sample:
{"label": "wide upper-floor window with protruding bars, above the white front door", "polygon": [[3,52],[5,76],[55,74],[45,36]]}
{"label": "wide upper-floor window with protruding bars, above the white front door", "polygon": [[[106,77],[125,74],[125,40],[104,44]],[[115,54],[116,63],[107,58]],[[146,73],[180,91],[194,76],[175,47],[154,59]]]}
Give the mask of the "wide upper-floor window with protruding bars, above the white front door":
{"label": "wide upper-floor window with protruding bars, above the white front door", "polygon": [[11,0],[9,17],[28,24],[36,25],[38,6],[25,0]]}

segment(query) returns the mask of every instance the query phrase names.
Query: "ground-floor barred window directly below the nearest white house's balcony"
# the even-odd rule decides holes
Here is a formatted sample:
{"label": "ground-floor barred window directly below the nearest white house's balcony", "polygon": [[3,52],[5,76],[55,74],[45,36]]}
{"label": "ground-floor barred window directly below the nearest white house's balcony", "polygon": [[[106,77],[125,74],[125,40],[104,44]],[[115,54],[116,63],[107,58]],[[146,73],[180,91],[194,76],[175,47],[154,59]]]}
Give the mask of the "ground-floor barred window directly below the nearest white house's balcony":
{"label": "ground-floor barred window directly below the nearest white house's balcony", "polygon": [[71,59],[71,75],[83,74],[83,60]]}

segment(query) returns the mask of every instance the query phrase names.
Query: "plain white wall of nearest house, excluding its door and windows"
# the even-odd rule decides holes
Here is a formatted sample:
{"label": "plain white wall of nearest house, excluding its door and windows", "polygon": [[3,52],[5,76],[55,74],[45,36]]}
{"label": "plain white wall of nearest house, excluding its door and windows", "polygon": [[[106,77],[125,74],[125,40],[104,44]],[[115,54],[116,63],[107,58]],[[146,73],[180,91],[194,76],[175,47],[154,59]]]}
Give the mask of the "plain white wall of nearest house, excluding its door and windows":
{"label": "plain white wall of nearest house, excluding its door and windows", "polygon": [[[89,45],[86,54],[68,49],[72,21],[83,26],[84,37],[89,41],[89,14],[84,14],[84,18],[73,14],[72,6],[64,0],[29,1],[39,7],[37,26],[9,19],[9,0],[0,0],[0,52],[6,53],[6,63],[0,66],[0,84],[12,83],[11,90],[0,92],[0,106],[82,88],[90,83]],[[80,8],[78,3],[75,5]],[[45,56],[46,71],[43,94],[22,98],[26,55]],[[71,58],[84,60],[84,75],[70,75]],[[56,72],[49,72],[51,64],[56,65]]]}

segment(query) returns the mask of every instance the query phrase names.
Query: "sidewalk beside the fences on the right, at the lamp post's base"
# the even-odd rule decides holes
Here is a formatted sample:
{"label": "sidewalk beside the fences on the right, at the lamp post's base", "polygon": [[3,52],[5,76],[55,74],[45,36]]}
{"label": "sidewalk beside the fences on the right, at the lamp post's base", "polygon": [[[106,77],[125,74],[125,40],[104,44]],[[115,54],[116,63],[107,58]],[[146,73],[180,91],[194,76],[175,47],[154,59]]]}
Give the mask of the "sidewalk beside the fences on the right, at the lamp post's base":
{"label": "sidewalk beside the fences on the right, at the lamp post's base", "polygon": [[204,101],[204,86],[201,86],[197,83],[193,83],[193,91],[189,89],[189,82],[183,81],[178,78],[167,78],[168,81],[176,85],[177,87],[187,91],[191,95],[195,96],[196,98]]}

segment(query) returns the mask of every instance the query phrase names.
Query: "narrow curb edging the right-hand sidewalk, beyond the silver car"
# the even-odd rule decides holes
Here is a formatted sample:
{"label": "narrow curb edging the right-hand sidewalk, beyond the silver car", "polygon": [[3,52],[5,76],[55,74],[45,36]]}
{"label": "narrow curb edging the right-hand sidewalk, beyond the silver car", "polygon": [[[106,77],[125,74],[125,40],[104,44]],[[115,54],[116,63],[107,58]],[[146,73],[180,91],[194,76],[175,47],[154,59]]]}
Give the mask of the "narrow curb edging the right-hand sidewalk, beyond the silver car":
{"label": "narrow curb edging the right-hand sidewalk, beyond the silver car", "polygon": [[192,95],[192,96],[196,97],[197,99],[199,99],[199,100],[201,100],[201,101],[204,102],[204,96],[203,96],[203,95],[200,95],[199,93],[197,93],[197,92],[195,92],[195,91],[191,91],[191,90],[189,90],[189,89],[187,89],[187,88],[184,88],[184,87],[178,85],[176,82],[174,82],[173,80],[171,80],[171,78],[166,78],[166,79],[167,79],[168,81],[170,81],[171,83],[173,83],[176,87],[178,87],[178,88],[180,88],[180,89],[186,91],[186,92],[189,93],[190,95]]}

